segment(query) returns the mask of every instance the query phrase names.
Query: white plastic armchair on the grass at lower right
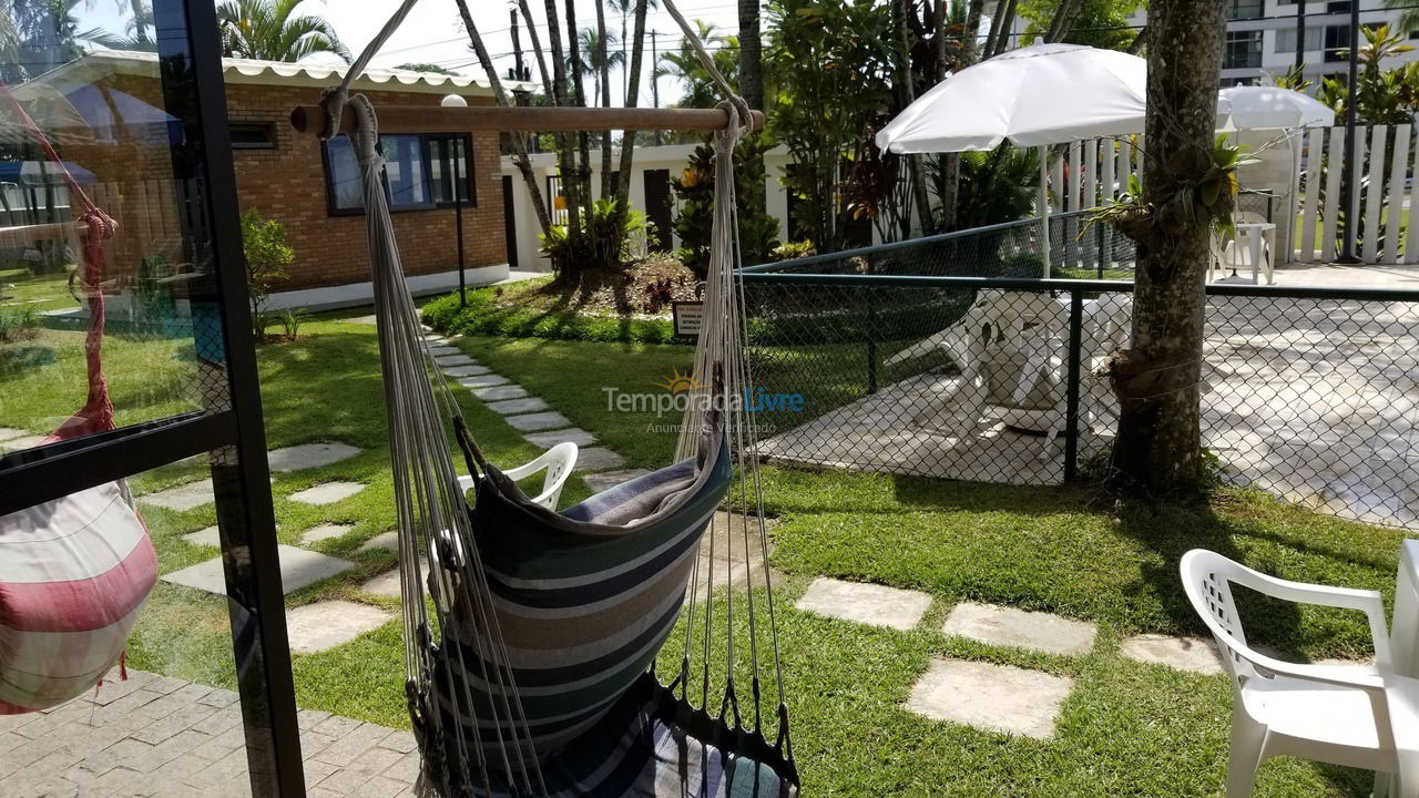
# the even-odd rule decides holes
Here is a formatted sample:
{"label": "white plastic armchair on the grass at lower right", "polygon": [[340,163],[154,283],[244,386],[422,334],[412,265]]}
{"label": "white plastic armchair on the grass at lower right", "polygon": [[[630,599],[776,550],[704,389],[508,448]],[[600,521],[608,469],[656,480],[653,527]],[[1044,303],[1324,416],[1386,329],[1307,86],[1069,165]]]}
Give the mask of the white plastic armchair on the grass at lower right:
{"label": "white plastic armchair on the grass at lower right", "polygon": [[[1256,772],[1269,757],[1301,757],[1381,774],[1399,770],[1385,693],[1393,660],[1378,592],[1288,582],[1203,550],[1183,555],[1181,571],[1188,598],[1232,674],[1229,798],[1252,795]],[[1233,584],[1296,603],[1364,612],[1375,667],[1297,665],[1249,647],[1232,599]]]}

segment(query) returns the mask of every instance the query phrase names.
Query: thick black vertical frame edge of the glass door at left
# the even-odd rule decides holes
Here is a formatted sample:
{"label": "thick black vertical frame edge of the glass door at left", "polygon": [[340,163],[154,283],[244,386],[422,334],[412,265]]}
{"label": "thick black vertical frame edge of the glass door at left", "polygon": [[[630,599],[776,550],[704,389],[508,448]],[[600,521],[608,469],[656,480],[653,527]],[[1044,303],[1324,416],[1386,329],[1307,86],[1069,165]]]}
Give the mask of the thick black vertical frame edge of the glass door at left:
{"label": "thick black vertical frame edge of the glass door at left", "polygon": [[[257,382],[251,308],[247,304],[241,229],[237,223],[237,182],[231,163],[221,40],[216,7],[200,0],[159,0],[159,30],[165,18],[186,18],[192,62],[182,75],[196,87],[196,126],[189,131],[200,146],[206,182],[201,209],[211,220],[211,256],[219,297],[211,308],[221,322],[221,349],[227,400],[236,422],[231,444],[213,452],[211,481],[216,494],[221,561],[227,576],[227,608],[236,649],[237,683],[247,740],[247,767],[253,795],[301,798],[305,772],[301,731],[295,720],[295,683],[285,629],[285,599],[277,552],[275,511],[271,507],[265,427]],[[162,45],[163,37],[159,37]],[[169,102],[180,101],[183,81],[173,72],[184,60],[160,53]],[[194,324],[197,308],[194,307]],[[199,352],[201,351],[201,331]],[[220,364],[219,373],[220,373]]]}

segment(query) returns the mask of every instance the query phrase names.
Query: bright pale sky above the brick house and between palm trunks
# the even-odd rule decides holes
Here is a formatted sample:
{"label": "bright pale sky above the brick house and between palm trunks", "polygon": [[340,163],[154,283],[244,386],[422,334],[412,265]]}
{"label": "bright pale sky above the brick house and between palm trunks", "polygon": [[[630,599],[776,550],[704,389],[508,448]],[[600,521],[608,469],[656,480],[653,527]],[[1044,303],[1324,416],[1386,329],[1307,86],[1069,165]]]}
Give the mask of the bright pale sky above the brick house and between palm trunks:
{"label": "bright pale sky above the brick house and between palm trunks", "polygon": [[[379,28],[385,26],[389,16],[399,7],[399,1],[400,0],[305,0],[305,3],[299,6],[298,11],[304,14],[322,16],[329,20],[335,27],[335,33],[341,37],[345,45],[349,47],[352,53],[358,54],[375,37],[375,34],[379,33]],[[529,6],[532,7],[532,14],[538,20],[538,34],[545,45],[546,21],[543,10],[546,3],[545,0],[531,0]],[[670,14],[664,10],[657,10],[656,6],[657,4],[653,0],[651,10],[646,17],[646,30],[657,31],[660,34],[657,40],[660,43],[660,51],[664,53],[678,47],[681,34]],[[473,13],[474,23],[478,26],[478,30],[488,45],[488,51],[492,54],[494,62],[498,65],[498,70],[504,77],[514,62],[512,34],[509,31],[508,20],[508,10],[511,7],[514,6],[505,0],[468,0],[468,10]],[[558,0],[558,7],[565,7],[565,0]],[[609,1],[604,7],[606,27],[619,37],[620,14],[612,9]],[[738,28],[738,6],[735,0],[678,0],[677,7],[688,20],[700,18],[707,23],[712,23],[725,33],[734,33]],[[75,16],[79,18],[81,30],[88,27],[101,27],[109,31],[122,31],[129,16],[126,9],[128,0],[88,0],[87,3],[78,4]],[[576,0],[576,21],[578,27],[595,27],[596,0]],[[627,20],[627,27],[630,27],[631,23],[633,20]],[[562,30],[565,34],[565,18],[562,18]],[[531,58],[531,47],[525,28],[522,34],[522,45],[528,53],[526,64],[532,68],[532,77],[534,80],[538,80],[536,65]],[[329,60],[331,57],[312,57],[309,61]],[[403,26],[400,26],[393,38],[385,44],[380,54],[372,61],[375,67],[394,67],[407,62],[431,62],[470,77],[482,75],[482,68],[475,61],[473,51],[468,50],[468,37],[463,30],[463,20],[460,18],[458,6],[454,0],[420,0],[416,3]],[[650,41],[647,37],[646,65],[643,67],[644,77],[641,81],[641,97],[647,98],[647,101],[650,91],[648,72]],[[624,77],[613,72],[612,81],[613,87],[620,87]],[[670,78],[661,80],[660,94],[663,102],[673,102],[680,97],[681,88],[674,85],[674,82],[675,81]],[[620,91],[612,91],[613,101],[617,101],[617,104],[619,95]]]}

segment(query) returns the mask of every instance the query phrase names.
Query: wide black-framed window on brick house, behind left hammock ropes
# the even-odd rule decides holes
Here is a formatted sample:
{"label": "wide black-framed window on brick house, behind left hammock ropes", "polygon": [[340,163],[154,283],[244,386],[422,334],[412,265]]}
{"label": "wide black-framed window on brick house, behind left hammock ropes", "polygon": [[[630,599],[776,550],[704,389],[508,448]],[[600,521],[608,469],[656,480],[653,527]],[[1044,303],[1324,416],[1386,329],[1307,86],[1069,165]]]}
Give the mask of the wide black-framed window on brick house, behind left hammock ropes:
{"label": "wide black-framed window on brick house, behind left hammock ropes", "polygon": [[[379,138],[385,151],[385,175],[389,182],[390,210],[430,210],[434,187],[430,175],[429,141],[433,136],[389,133]],[[331,214],[343,216],[365,212],[365,186],[359,162],[348,136],[325,142],[325,182]],[[448,195],[453,202],[453,195]]]}

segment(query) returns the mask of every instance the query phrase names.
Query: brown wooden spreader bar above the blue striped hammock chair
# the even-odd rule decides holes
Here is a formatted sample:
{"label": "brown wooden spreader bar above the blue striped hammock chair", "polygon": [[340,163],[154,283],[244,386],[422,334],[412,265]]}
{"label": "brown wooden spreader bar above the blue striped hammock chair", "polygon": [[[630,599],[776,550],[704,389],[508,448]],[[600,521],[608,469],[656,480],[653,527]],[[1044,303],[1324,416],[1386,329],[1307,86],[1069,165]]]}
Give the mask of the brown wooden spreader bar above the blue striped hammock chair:
{"label": "brown wooden spreader bar above the blue striped hammock chair", "polygon": [[[399,133],[461,132],[578,132],[578,131],[722,131],[729,115],[722,108],[534,108],[524,105],[385,105],[380,125]],[[763,112],[751,112],[753,129],[763,128]],[[355,114],[341,119],[342,133],[355,131]],[[325,128],[325,109],[299,105],[291,126],[302,133]]]}

